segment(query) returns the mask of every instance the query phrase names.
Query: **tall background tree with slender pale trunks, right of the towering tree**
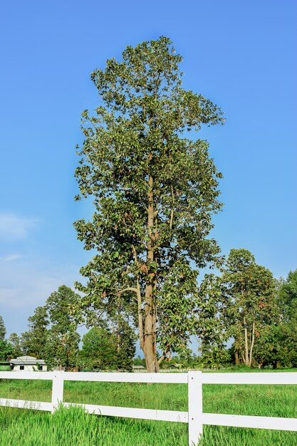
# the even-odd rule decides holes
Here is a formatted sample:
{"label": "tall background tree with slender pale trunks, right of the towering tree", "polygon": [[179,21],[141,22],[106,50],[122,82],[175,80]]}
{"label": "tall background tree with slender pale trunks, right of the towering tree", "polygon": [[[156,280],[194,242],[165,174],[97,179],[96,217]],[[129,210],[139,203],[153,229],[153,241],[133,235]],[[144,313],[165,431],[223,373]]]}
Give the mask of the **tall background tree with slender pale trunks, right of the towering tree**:
{"label": "tall background tree with slender pale trunks, right of the towering tree", "polygon": [[229,334],[234,338],[236,362],[240,358],[250,367],[255,343],[278,321],[276,281],[247,249],[231,249],[222,280],[230,299]]}

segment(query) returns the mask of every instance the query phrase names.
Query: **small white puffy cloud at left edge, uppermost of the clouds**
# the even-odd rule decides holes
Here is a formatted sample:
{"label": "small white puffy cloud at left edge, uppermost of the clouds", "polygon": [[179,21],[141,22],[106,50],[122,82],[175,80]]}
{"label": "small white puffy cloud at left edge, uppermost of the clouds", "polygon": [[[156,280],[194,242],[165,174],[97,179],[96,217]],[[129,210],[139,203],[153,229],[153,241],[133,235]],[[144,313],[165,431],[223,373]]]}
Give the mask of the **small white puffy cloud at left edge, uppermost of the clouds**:
{"label": "small white puffy cloud at left edge, uppermost of the clouds", "polygon": [[0,212],[0,240],[15,241],[28,237],[31,229],[38,224],[38,219],[21,217],[12,212]]}

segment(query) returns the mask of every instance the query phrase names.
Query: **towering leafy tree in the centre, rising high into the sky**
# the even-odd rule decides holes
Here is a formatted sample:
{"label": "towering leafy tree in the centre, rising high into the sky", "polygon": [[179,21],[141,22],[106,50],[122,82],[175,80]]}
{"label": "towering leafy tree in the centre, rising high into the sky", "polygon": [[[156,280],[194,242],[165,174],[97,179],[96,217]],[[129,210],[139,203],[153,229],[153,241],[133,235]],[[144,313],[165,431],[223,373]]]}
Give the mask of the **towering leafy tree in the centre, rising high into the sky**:
{"label": "towering leafy tree in the centre, rising high into the sky", "polygon": [[204,96],[182,88],[169,38],[127,46],[91,78],[100,104],[83,112],[83,145],[75,172],[93,218],[75,222],[78,239],[97,254],[81,269],[87,316],[125,307],[134,313],[147,370],[187,347],[194,329],[198,269],[215,264],[209,237],[219,211],[218,178],[205,140],[187,130],[222,123]]}

